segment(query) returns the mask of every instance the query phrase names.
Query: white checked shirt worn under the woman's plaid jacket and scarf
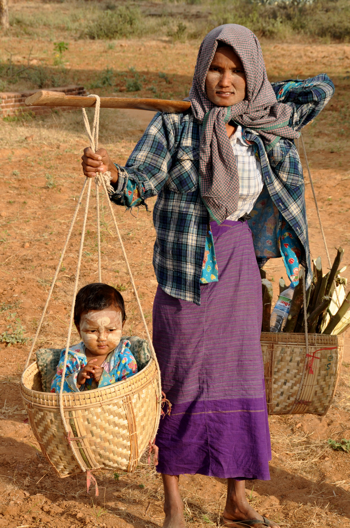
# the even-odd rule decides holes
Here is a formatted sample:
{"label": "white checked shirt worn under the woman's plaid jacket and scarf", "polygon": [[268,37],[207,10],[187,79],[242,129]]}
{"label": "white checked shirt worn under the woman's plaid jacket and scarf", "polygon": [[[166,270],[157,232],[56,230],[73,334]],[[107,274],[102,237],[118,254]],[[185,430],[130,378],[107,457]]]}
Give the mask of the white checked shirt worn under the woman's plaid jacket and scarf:
{"label": "white checked shirt worn under the woman's plaid jacket and scarf", "polygon": [[239,176],[238,209],[227,220],[238,220],[245,213],[250,213],[263,190],[261,165],[254,153],[254,147],[242,138],[242,127],[230,136],[230,143],[237,161]]}

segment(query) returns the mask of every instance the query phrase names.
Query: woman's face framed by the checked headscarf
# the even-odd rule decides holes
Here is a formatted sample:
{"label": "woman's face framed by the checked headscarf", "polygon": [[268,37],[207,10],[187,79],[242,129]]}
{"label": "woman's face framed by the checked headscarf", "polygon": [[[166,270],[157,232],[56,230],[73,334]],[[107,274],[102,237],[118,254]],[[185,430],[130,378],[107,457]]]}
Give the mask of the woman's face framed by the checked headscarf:
{"label": "woman's face framed by the checked headscarf", "polygon": [[216,51],[206,77],[206,92],[216,106],[232,106],[245,99],[246,75],[230,46]]}

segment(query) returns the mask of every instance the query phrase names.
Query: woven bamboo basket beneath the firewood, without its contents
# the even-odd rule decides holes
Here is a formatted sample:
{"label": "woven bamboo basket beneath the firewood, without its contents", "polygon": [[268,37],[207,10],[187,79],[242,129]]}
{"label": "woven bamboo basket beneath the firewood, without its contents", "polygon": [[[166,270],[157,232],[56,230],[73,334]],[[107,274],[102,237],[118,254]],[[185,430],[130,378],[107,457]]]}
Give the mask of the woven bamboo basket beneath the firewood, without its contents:
{"label": "woven bamboo basket beneath the firewood, without its contents", "polygon": [[332,403],[343,335],[261,333],[269,414],[325,414]]}

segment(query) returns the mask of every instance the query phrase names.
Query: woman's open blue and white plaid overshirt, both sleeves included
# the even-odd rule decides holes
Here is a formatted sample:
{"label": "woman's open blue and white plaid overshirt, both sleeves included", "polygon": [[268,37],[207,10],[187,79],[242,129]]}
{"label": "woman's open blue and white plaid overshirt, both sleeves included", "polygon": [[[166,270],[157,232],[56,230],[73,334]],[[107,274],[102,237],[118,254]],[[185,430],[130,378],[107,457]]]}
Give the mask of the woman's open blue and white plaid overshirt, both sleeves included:
{"label": "woman's open blue and white plaid overshirt, both sleeves included", "polygon": [[[312,79],[281,81],[272,86],[277,99],[291,107],[289,125],[295,130],[314,119],[334,93],[334,85],[324,73]],[[309,286],[312,274],[304,178],[294,142],[281,138],[266,152],[253,129],[245,128],[243,137],[254,145],[259,156],[264,189],[268,191],[276,223],[281,214],[302,243],[304,252],[300,262],[306,267]],[[111,195],[113,202],[128,206],[129,178],[137,185],[142,203],[157,195],[153,210],[157,233],[153,252],[155,276],[166,293],[198,305],[209,220],[198,185],[199,139],[200,125],[190,111],[156,114],[125,167],[116,165],[119,180]],[[257,216],[250,227],[253,237],[259,239],[261,223]],[[264,259],[264,254],[257,257]]]}

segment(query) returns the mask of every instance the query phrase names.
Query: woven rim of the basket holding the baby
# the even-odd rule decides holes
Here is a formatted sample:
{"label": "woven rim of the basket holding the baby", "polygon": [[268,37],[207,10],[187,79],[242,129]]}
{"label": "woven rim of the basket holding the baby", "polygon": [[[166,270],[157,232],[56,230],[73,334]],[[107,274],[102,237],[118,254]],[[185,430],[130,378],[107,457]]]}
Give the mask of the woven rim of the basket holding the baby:
{"label": "woven rim of the basket holding the baby", "polygon": [[[81,392],[64,392],[63,393],[63,398],[65,397],[69,397],[69,398],[72,398],[72,396],[74,397],[75,395],[79,396],[80,394],[85,394],[88,393],[88,394],[91,394],[91,395],[94,395],[96,400],[98,398],[101,398],[101,393],[103,393],[103,395],[105,394],[105,391],[106,389],[107,390],[110,390],[110,389],[115,389],[115,386],[118,385],[118,386],[121,386],[121,385],[125,385],[125,384],[128,384],[130,383],[131,380],[133,381],[137,381],[137,378],[140,377],[141,375],[144,375],[145,374],[145,370],[147,370],[151,365],[152,363],[154,363],[154,359],[153,357],[150,357],[150,360],[148,361],[148,363],[143,367],[143,369],[141,369],[139,372],[137,372],[136,374],[134,374],[133,376],[129,376],[129,378],[125,378],[124,380],[120,380],[120,381],[116,381],[115,383],[111,383],[110,385],[106,385],[104,387],[98,387],[97,389],[92,389],[90,391],[83,391],[82,393]],[[36,361],[33,361],[33,363],[31,363],[30,365],[27,366],[27,368],[23,371],[22,373],[22,376],[21,376],[21,382],[20,382],[20,387],[21,389],[23,388],[23,390],[21,390],[22,392],[22,397],[24,396],[23,392],[28,392],[30,394],[33,395],[33,397],[40,397],[41,394],[45,394],[45,398],[48,398],[49,400],[52,401],[52,403],[54,402],[54,399],[55,398],[59,398],[59,393],[56,393],[56,392],[44,392],[44,391],[35,391],[34,389],[31,389],[29,388],[25,383],[24,383],[24,375],[26,374],[26,372],[30,369],[33,369],[33,367],[36,366],[36,368],[38,369],[38,366],[37,366],[37,362]],[[124,393],[123,395],[127,395],[128,393]],[[122,397],[122,395],[120,396]],[[120,398],[119,397],[119,398]],[[104,402],[107,403],[109,400],[105,400]],[[77,401],[74,402],[74,405],[77,404]],[[85,403],[81,403],[81,406],[88,406],[88,407],[93,407],[93,406],[96,406],[96,405],[100,405],[101,404],[101,401],[96,401],[96,402],[85,402]],[[56,407],[55,405],[50,405],[50,408],[54,408]],[[58,400],[57,400],[57,407],[59,407],[59,403],[58,403]],[[65,407],[70,407],[69,404],[65,404]]]}

